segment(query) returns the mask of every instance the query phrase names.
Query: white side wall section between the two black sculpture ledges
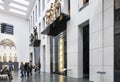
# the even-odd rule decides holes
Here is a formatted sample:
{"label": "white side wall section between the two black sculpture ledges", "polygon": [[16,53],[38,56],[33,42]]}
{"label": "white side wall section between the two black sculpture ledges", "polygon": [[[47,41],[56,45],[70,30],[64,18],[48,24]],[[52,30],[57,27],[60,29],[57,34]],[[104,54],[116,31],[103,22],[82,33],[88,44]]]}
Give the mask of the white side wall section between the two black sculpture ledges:
{"label": "white side wall section between the two black sculpture ledges", "polygon": [[[49,37],[47,37],[46,35],[41,34],[41,32],[45,29],[45,25],[43,25],[43,18],[45,17],[45,10],[49,7],[48,4],[50,4],[49,2],[47,2],[47,0],[45,0],[45,10],[42,11],[42,2],[43,0],[40,0],[40,16],[38,16],[37,21],[35,21],[35,24],[33,26],[37,26],[38,27],[38,35],[39,35],[39,39],[41,40],[40,42],[40,62],[41,62],[41,71],[42,72],[48,72],[50,73],[50,48],[49,48]],[[31,11],[31,14],[29,16],[32,16],[33,11],[35,11],[35,6],[38,6],[38,0],[36,0],[34,7]],[[39,24],[41,26],[39,26]],[[32,28],[30,29],[30,32],[32,32]],[[43,46],[45,46],[45,52],[43,52]],[[44,54],[45,53],[45,54]],[[45,62],[45,64],[44,64]],[[45,69],[44,69],[45,66]]]}

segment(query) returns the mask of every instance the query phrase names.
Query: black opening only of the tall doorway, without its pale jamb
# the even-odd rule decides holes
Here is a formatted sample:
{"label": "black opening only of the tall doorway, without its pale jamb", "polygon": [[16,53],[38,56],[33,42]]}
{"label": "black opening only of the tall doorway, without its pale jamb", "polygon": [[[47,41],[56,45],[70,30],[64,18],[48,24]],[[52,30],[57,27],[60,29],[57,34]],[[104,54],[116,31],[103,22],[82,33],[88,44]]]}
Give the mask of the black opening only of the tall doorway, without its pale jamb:
{"label": "black opening only of the tall doorway, without its pale jamb", "polygon": [[89,79],[89,25],[83,27],[83,78]]}

